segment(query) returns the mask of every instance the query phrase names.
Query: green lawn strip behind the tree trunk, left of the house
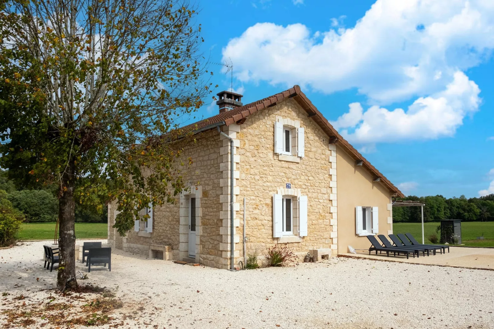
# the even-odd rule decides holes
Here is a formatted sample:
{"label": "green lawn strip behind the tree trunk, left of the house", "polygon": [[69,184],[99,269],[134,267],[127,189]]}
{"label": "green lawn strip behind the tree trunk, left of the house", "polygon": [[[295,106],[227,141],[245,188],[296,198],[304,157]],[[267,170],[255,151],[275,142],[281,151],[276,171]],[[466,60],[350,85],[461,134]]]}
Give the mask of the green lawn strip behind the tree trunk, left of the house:
{"label": "green lawn strip behind the tree trunk, left of the house", "polygon": [[[56,223],[24,223],[19,233],[20,240],[53,240]],[[100,238],[106,239],[108,224],[106,223],[76,223],[76,239]]]}

